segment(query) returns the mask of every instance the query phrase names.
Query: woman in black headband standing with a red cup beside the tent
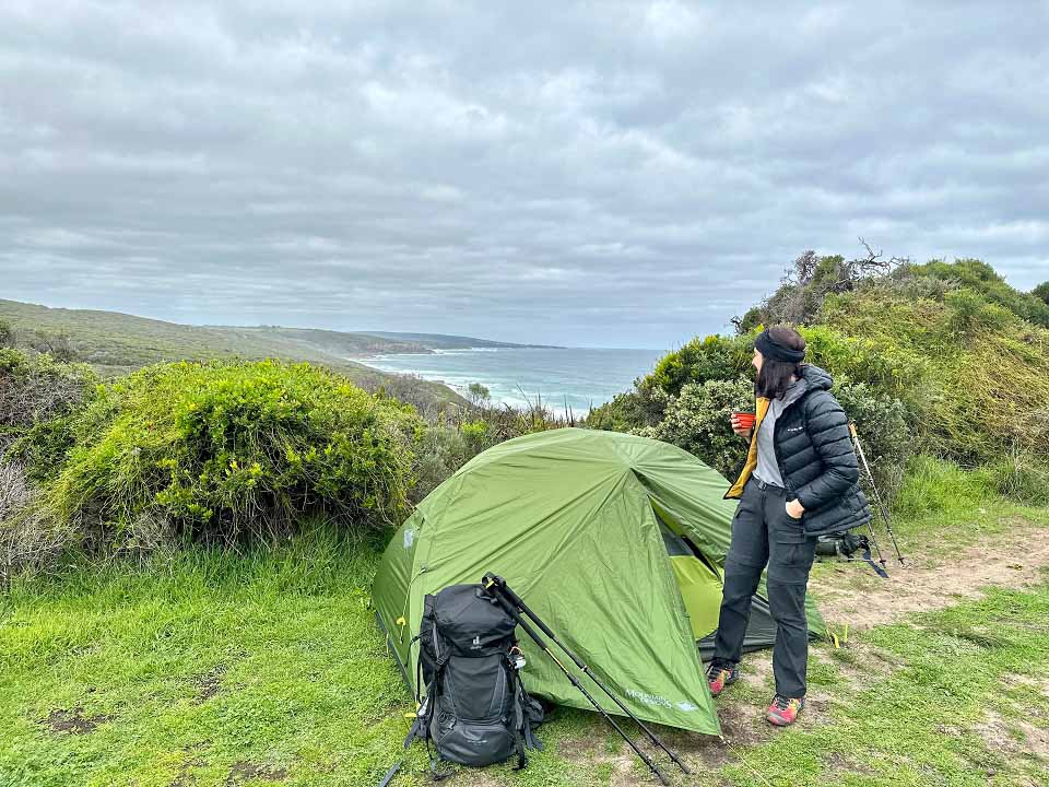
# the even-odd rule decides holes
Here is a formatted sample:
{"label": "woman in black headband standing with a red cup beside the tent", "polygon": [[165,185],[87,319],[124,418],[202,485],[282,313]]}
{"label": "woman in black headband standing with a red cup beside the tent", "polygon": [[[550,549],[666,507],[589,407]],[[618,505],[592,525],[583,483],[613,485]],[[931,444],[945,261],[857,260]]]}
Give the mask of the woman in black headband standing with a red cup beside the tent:
{"label": "woman in black headband standing with a red cup beside the tent", "polygon": [[768,720],[792,724],[805,704],[809,624],[805,590],[816,537],[864,525],[871,518],[845,411],[829,392],[830,375],[802,363],[805,340],[786,326],[754,343],[756,420],[733,431],[751,447],[726,497],[740,498],[724,561],[724,591],[707,670],[717,696],[735,682],[751,600],[768,566],[768,603],[776,621],[773,672],[776,696]]}

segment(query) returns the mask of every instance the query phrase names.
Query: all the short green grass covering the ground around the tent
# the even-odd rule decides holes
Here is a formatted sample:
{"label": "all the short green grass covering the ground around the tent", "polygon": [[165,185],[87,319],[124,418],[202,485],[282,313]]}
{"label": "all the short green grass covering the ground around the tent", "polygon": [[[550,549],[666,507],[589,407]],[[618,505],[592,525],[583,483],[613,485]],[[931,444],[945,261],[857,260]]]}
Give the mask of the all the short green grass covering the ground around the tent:
{"label": "all the short green grass covering the ground around the tent", "polygon": [[[917,542],[969,525],[971,507],[946,510],[934,530],[931,510],[899,529]],[[0,784],[377,784],[405,756],[412,709],[370,609],[379,554],[316,529],[16,582],[0,596]],[[762,720],[767,661],[750,657],[719,700],[727,748],[662,730],[696,772],[669,772],[676,784],[1047,784],[1026,750],[1049,735],[1049,582],[815,646],[810,709],[789,730]],[[557,709],[541,738],[527,771],[455,783],[656,784],[591,714]],[[429,783],[413,747],[393,784]]]}

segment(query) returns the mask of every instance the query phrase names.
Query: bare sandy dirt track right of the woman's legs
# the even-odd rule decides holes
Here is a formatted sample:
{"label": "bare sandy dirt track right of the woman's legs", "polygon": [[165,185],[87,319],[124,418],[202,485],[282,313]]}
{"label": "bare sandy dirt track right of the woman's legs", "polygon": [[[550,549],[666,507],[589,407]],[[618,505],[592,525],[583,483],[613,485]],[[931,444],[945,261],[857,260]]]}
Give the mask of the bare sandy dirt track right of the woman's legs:
{"label": "bare sandy dirt track right of the woman's legs", "polygon": [[889,562],[888,579],[861,574],[860,564],[840,567],[814,577],[811,588],[828,624],[868,629],[978,597],[987,586],[1037,583],[1049,566],[1049,539],[1044,535],[1030,526],[1016,527],[945,557],[916,556],[904,566]]}

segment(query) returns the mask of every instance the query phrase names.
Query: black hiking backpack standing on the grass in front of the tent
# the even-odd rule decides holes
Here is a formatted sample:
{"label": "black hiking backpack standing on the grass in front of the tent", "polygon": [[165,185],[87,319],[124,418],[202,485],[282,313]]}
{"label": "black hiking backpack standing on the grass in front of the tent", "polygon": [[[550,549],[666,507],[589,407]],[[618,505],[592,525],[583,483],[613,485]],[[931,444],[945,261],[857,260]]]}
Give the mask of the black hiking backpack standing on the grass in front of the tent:
{"label": "black hiking backpack standing on the grass in front of the tent", "polygon": [[[528,764],[526,749],[542,749],[532,729],[543,708],[528,695],[518,669],[523,666],[517,622],[480,585],[451,585],[423,602],[419,627],[416,686],[426,688],[404,748],[415,738],[431,742],[437,757],[483,766],[517,754],[516,770]],[[438,778],[433,752],[431,770]]]}

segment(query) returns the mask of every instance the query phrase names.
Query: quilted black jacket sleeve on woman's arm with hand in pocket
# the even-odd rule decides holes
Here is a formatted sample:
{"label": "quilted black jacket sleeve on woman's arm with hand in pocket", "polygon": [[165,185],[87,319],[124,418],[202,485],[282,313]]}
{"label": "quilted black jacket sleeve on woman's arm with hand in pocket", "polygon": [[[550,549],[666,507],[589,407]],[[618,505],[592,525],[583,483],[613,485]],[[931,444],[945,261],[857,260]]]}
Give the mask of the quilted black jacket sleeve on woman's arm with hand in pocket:
{"label": "quilted black jacket sleeve on woman's arm with hand in pocket", "polygon": [[805,510],[823,508],[845,495],[860,478],[845,410],[829,393],[818,397],[806,415],[809,439],[823,462],[823,473],[797,495]]}

